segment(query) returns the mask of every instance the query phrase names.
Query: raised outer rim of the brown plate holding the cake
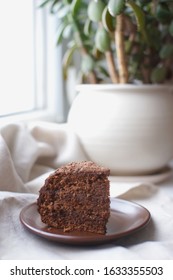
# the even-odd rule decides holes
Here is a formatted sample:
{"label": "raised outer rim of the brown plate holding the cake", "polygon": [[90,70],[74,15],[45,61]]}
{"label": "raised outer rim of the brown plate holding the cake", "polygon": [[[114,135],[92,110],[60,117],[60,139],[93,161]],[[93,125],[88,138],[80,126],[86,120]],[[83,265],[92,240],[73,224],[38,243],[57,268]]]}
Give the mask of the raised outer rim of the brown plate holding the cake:
{"label": "raised outer rim of the brown plate holding the cake", "polygon": [[[145,227],[151,220],[151,213],[149,212],[149,210],[147,208],[145,208],[144,206],[140,205],[139,203],[130,201],[130,200],[125,200],[125,199],[121,199],[121,198],[110,198],[111,202],[113,201],[119,201],[121,203],[127,203],[133,207],[139,208],[141,211],[143,211],[143,213],[145,213],[145,219],[143,222],[141,222],[138,226],[132,227],[129,230],[120,232],[120,233],[116,233],[116,234],[105,234],[105,235],[101,235],[101,234],[93,234],[93,235],[81,235],[79,237],[79,235],[70,235],[69,233],[66,234],[59,234],[59,233],[51,233],[51,232],[47,232],[41,229],[38,229],[36,227],[33,227],[31,225],[29,225],[25,219],[23,218],[24,213],[30,209],[31,207],[35,207],[37,205],[36,201],[32,202],[30,204],[27,204],[26,206],[24,206],[19,214],[19,219],[20,222],[22,223],[22,225],[28,229],[31,233],[43,237],[47,240],[51,240],[51,241],[56,241],[59,243],[63,243],[63,244],[70,244],[70,245],[88,245],[88,244],[105,244],[105,243],[110,243],[113,241],[116,241],[122,237],[131,235],[132,233],[137,232],[138,230],[142,229],[143,227]],[[112,209],[116,210],[115,208]],[[37,213],[39,215],[39,213]],[[46,226],[46,225],[45,225]],[[73,232],[74,233],[74,232]]]}

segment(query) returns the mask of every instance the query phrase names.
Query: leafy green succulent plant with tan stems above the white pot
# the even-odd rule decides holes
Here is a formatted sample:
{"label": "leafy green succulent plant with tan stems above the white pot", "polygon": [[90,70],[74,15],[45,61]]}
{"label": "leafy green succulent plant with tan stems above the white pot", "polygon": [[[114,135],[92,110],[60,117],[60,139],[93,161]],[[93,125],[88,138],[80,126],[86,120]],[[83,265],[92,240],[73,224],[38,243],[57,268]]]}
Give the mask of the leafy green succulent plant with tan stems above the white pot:
{"label": "leafy green succulent plant with tan stems above the white pot", "polygon": [[173,1],[46,0],[68,38],[64,76],[77,51],[83,82],[163,83],[173,78]]}

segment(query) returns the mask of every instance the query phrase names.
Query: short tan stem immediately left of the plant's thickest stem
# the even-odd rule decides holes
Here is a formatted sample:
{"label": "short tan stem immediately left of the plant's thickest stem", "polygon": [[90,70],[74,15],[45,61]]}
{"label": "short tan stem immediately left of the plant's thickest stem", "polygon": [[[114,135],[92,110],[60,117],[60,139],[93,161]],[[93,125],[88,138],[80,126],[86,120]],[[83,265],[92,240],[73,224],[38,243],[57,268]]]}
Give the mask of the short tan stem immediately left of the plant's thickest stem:
{"label": "short tan stem immediately left of the plant's thickest stem", "polygon": [[119,76],[118,76],[118,72],[115,68],[113,54],[111,51],[107,51],[105,53],[105,56],[106,56],[106,61],[107,61],[108,70],[109,70],[109,74],[110,74],[112,83],[117,84],[117,83],[119,83]]}

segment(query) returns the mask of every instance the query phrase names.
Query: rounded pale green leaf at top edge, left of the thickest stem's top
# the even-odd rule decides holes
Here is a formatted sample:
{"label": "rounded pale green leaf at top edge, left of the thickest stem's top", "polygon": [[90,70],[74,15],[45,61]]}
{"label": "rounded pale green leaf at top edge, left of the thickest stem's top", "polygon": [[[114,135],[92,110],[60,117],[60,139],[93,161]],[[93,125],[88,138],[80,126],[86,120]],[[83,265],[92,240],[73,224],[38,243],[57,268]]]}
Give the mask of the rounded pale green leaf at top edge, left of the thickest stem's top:
{"label": "rounded pale green leaf at top edge, left of the thickest stem's top", "polygon": [[99,22],[102,19],[102,13],[105,4],[102,0],[92,0],[88,6],[88,17],[94,22]]}

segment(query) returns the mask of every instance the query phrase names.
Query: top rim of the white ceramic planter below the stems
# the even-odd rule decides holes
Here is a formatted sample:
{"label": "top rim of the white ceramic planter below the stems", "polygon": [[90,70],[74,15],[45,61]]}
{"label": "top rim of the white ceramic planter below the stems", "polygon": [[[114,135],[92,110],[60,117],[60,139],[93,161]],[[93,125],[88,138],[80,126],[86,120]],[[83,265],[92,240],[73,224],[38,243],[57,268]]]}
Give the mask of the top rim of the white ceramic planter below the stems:
{"label": "top rim of the white ceramic planter below the stems", "polygon": [[76,90],[110,90],[113,91],[115,89],[119,90],[124,90],[124,89],[129,89],[129,90],[143,90],[143,89],[148,89],[148,90],[170,90],[173,89],[173,84],[141,84],[141,85],[135,85],[135,84],[78,84],[76,85]]}

